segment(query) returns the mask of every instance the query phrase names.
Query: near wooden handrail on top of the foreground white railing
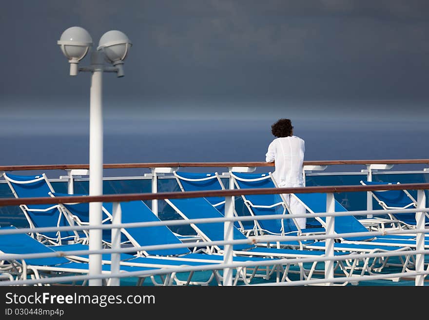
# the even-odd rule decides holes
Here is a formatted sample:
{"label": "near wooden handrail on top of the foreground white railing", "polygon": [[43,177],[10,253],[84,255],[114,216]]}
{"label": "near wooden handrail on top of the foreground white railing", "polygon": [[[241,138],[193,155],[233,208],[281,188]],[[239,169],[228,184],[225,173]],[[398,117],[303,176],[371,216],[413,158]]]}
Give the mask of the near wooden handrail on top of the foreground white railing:
{"label": "near wooden handrail on top of the foreground white railing", "polygon": [[161,199],[182,199],[200,197],[227,197],[238,195],[254,194],[277,194],[277,193],[314,193],[314,192],[355,192],[355,191],[375,191],[375,190],[421,190],[429,189],[429,183],[404,183],[392,185],[371,185],[371,186],[320,186],[301,188],[255,188],[255,189],[234,189],[234,190],[204,190],[185,192],[159,192],[159,193],[128,193],[128,194],[108,194],[101,196],[71,196],[71,197],[41,197],[41,198],[10,198],[0,199],[2,206],[19,205],[41,205],[58,203],[88,203],[88,202],[127,202],[135,200],[161,200]]}

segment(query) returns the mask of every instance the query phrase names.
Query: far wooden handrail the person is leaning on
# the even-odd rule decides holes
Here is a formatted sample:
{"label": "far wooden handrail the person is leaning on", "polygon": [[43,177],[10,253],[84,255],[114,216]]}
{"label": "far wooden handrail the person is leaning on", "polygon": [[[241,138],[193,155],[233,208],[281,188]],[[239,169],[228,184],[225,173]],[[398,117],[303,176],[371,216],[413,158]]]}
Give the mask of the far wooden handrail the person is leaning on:
{"label": "far wooden handrail the person is leaning on", "polygon": [[[304,166],[324,165],[370,165],[370,164],[429,164],[429,159],[397,159],[397,160],[317,160],[304,161]],[[162,163],[110,163],[104,164],[104,169],[130,168],[231,168],[231,167],[273,167],[274,163],[267,162],[162,162]],[[0,166],[0,171],[17,170],[66,170],[89,169],[88,164],[81,165],[29,165],[29,166]]]}

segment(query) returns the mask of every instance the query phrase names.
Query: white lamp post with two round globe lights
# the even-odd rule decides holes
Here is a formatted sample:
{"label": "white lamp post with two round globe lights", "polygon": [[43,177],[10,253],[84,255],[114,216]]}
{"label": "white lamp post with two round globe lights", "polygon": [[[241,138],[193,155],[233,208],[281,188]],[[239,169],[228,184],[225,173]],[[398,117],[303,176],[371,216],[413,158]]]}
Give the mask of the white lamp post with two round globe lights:
{"label": "white lamp post with two round globe lights", "polygon": [[[118,77],[124,76],[122,65],[132,43],[128,37],[117,30],[106,32],[99,40],[97,50],[91,54],[91,65],[78,68],[78,63],[93,45],[90,34],[81,27],[66,29],[59,41],[61,51],[69,59],[70,75],[78,75],[79,71],[91,72],[90,96],[90,132],[89,132],[89,195],[103,194],[103,108],[102,80],[103,72],[115,72]],[[105,66],[104,61],[113,64]],[[89,204],[89,226],[102,223],[102,203]],[[89,249],[102,248],[102,230],[89,230]],[[89,256],[89,275],[101,274],[101,255]],[[101,279],[90,279],[89,285],[101,285]]]}

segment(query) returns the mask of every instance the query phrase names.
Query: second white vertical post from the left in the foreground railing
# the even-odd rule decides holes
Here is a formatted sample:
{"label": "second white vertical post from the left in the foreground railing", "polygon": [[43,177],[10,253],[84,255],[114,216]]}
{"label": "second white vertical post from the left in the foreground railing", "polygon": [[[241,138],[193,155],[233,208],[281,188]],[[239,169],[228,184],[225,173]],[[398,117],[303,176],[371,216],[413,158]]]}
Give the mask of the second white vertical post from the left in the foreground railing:
{"label": "second white vertical post from the left in the foreground railing", "polygon": [[[225,218],[234,217],[234,207],[233,207],[234,196],[225,197]],[[225,221],[224,222],[224,240],[233,241],[234,240],[234,222]],[[231,264],[233,262],[233,245],[224,245],[223,252],[223,263]],[[223,285],[232,285],[233,284],[233,269],[224,268],[223,269]]]}

